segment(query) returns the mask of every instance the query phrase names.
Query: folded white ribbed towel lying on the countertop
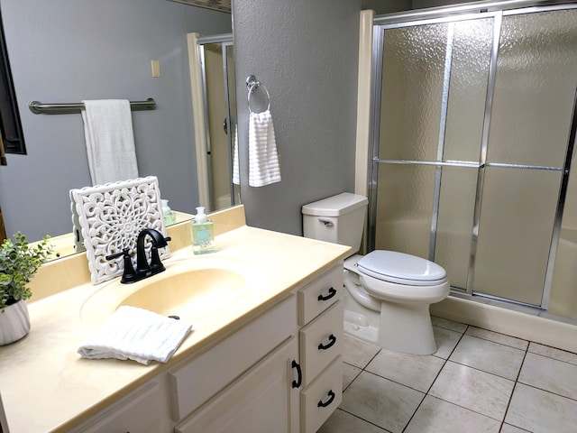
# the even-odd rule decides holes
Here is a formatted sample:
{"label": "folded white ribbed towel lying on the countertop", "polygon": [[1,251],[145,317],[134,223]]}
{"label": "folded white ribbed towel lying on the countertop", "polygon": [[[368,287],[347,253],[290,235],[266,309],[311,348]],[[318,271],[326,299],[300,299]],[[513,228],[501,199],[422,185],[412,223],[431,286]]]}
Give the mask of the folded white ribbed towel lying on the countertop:
{"label": "folded white ribbed towel lying on the countertop", "polygon": [[166,363],[192,325],[146,309],[121,306],[80,345],[83,358],[132,359],[141,364]]}

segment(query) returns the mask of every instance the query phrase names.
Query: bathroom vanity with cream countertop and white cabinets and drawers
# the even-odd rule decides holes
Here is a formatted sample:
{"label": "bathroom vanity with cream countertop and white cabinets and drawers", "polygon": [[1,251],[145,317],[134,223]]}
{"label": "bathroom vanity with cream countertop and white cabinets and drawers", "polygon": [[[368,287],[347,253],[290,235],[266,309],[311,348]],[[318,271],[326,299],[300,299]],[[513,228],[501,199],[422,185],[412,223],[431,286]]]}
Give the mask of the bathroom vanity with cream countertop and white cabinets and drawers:
{"label": "bathroom vanity with cream countertop and white cabinets and drawers", "polygon": [[[243,287],[191,313],[193,332],[167,364],[80,358],[76,349],[108,314],[106,302],[141,289],[116,281],[93,286],[87,270],[74,271],[78,256],[44,265],[33,281],[31,333],[0,347],[11,433],[308,433],[322,425],[342,397],[349,248],[245,226],[243,207],[211,218],[218,252],[194,256],[188,224],[171,227],[167,271],[147,284],[197,266],[230,268]],[[66,287],[62,279],[73,282]]]}

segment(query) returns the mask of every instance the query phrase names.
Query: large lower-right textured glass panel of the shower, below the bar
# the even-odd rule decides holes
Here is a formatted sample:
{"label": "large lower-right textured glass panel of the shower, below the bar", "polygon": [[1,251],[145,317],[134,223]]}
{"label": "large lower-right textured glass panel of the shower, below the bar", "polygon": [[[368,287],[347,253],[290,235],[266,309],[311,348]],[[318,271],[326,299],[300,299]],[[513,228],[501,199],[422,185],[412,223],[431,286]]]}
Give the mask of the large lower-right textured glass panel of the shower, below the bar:
{"label": "large lower-right textured glass panel of the shower, below the bar", "polygon": [[473,290],[540,305],[561,172],[486,169]]}

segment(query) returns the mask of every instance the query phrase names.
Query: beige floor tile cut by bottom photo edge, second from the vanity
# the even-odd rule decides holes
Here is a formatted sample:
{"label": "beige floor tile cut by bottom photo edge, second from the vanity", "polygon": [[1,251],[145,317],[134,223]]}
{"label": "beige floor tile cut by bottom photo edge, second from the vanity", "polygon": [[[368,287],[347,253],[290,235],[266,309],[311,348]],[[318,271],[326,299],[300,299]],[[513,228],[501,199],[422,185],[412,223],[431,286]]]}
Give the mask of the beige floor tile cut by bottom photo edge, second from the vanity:
{"label": "beige floor tile cut by bottom photo edge, second from the vanity", "polygon": [[497,419],[427,395],[405,433],[499,433],[499,427]]}

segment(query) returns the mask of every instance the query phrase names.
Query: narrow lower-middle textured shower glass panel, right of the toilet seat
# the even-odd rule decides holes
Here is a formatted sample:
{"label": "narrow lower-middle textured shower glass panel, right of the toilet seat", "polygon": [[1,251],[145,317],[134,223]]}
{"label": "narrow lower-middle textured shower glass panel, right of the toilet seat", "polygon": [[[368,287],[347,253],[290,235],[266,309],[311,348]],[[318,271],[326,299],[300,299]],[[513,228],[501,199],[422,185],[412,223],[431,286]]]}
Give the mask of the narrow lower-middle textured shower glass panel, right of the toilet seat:
{"label": "narrow lower-middle textured shower glass panel, right of the toilet seat", "polygon": [[454,287],[467,288],[476,169],[444,167],[436,226],[435,263],[444,267]]}

